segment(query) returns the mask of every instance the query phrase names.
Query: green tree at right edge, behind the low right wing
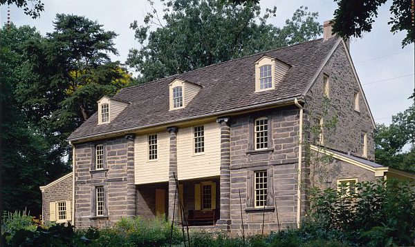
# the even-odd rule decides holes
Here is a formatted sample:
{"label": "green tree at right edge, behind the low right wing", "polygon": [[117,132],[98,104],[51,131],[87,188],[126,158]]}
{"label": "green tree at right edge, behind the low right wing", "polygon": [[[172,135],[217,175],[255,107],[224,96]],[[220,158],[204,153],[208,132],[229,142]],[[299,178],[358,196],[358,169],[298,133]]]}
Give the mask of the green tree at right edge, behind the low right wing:
{"label": "green tree at right edge, behind the low right wing", "polygon": [[[392,124],[378,124],[375,133],[376,162],[415,172],[415,103],[392,117]],[[405,145],[409,151],[403,152]]]}

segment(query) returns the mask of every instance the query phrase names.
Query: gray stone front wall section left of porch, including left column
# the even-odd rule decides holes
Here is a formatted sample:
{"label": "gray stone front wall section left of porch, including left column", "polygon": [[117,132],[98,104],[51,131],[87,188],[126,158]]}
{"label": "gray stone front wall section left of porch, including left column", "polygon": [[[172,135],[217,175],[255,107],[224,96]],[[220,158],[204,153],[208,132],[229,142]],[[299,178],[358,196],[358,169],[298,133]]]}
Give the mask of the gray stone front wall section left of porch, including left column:
{"label": "gray stone front wall section left of porch, including left column", "polygon": [[[95,170],[95,146],[104,145],[104,169]],[[75,144],[75,226],[111,226],[136,215],[133,136]],[[95,188],[104,188],[104,216],[95,213]]]}

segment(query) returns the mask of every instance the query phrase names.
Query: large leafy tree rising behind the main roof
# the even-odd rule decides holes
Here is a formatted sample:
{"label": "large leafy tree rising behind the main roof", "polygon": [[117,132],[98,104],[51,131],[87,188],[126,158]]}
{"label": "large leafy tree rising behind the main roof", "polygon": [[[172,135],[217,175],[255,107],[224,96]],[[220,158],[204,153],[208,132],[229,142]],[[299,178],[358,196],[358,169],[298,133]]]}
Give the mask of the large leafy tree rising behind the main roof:
{"label": "large leafy tree rising behind the main roof", "polygon": [[261,15],[257,3],[177,0],[163,1],[163,6],[162,14],[154,8],[148,12],[143,26],[137,21],[130,26],[141,48],[130,50],[127,64],[140,72],[141,81],[315,39],[322,33],[317,13],[306,7],[278,28],[267,23],[275,17],[276,7]]}

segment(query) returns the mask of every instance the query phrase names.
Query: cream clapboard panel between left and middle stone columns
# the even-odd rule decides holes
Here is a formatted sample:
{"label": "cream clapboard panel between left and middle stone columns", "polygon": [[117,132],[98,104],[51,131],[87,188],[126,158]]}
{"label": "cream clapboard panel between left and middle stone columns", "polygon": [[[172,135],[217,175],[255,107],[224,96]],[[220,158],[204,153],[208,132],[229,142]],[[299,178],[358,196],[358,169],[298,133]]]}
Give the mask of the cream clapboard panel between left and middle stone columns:
{"label": "cream clapboard panel between left and middle stone columns", "polygon": [[134,142],[136,184],[149,184],[169,180],[169,133],[157,134],[157,160],[149,161],[148,135],[138,135]]}

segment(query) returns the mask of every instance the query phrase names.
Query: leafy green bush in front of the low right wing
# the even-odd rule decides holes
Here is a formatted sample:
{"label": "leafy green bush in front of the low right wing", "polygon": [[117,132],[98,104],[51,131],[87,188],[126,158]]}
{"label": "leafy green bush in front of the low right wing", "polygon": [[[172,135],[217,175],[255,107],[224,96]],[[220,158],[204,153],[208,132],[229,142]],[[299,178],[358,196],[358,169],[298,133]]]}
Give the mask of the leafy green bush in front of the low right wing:
{"label": "leafy green bush in front of the low right wing", "polygon": [[407,181],[357,183],[342,195],[332,188],[311,193],[308,224],[335,230],[364,246],[408,246],[415,239],[415,185]]}

